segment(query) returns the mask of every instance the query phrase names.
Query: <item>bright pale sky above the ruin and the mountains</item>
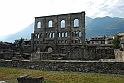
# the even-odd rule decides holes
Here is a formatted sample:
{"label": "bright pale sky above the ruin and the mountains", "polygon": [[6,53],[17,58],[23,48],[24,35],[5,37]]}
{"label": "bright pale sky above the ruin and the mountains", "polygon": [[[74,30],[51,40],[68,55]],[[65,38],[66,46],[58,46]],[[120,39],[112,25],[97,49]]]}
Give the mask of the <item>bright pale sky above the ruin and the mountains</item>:
{"label": "bright pale sky above the ruin and the mountains", "polygon": [[26,28],[34,17],[81,11],[91,18],[124,18],[124,0],[0,0],[0,37]]}

